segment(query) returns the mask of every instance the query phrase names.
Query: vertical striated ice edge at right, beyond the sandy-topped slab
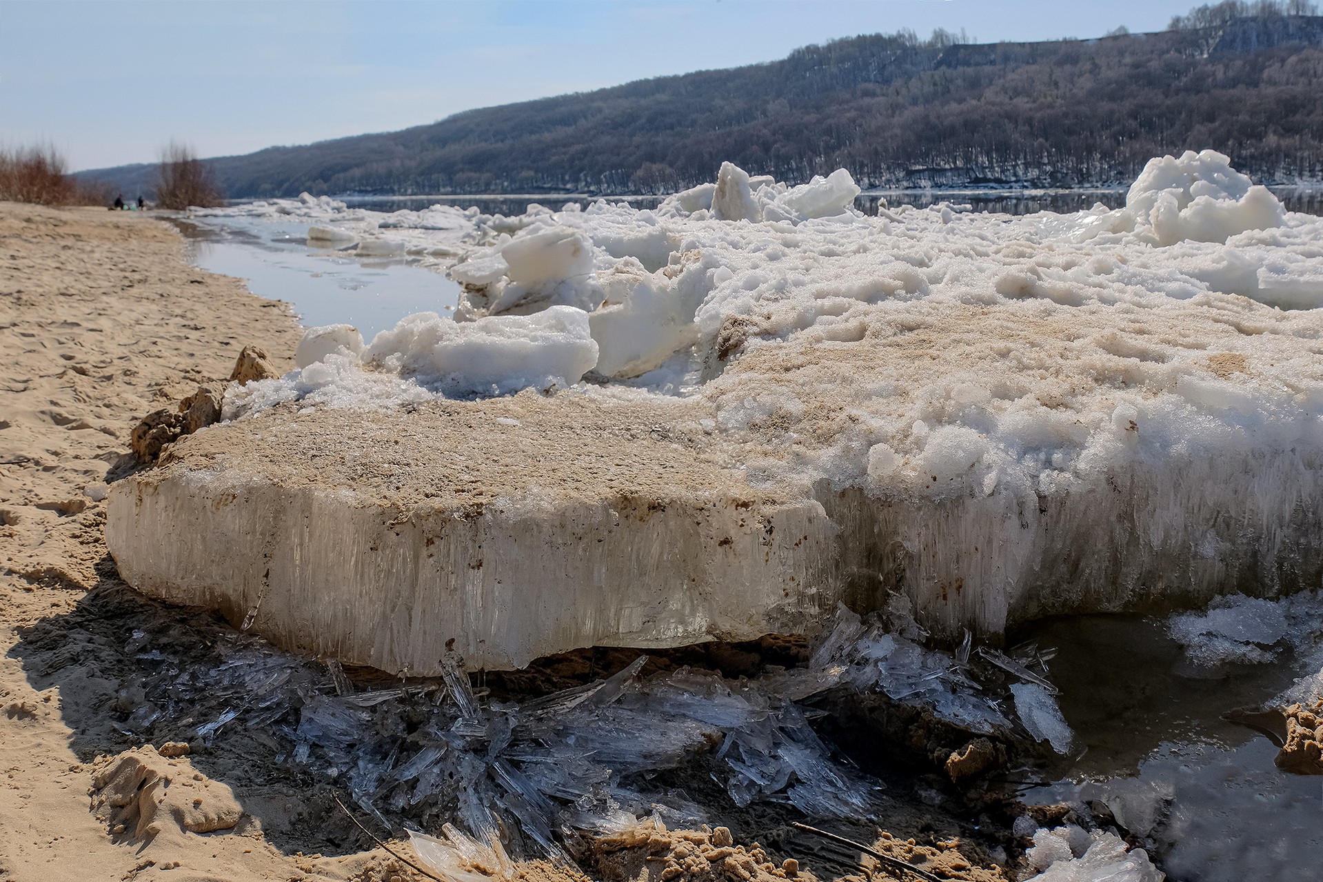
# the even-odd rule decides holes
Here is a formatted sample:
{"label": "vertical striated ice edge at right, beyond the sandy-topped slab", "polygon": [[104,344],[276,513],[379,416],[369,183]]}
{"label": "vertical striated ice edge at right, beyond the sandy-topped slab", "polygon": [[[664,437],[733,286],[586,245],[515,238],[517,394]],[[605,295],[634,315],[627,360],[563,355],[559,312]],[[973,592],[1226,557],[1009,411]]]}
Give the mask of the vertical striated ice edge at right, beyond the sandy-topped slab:
{"label": "vertical striated ice edge at right, beyond the sandy-topped slab", "polygon": [[925,503],[822,494],[840,527],[841,593],[908,593],[947,637],[1072,612],[1277,595],[1323,580],[1323,461],[1299,450],[1132,464],[1045,494]]}

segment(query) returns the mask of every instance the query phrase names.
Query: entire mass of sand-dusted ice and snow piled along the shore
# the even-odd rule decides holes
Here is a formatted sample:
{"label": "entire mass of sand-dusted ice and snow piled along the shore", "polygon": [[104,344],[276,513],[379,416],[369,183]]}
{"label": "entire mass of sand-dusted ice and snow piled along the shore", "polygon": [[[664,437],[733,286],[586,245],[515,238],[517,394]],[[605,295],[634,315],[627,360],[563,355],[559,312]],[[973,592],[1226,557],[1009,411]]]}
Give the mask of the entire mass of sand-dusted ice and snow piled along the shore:
{"label": "entire mass of sand-dusted ice and snow piled along the shore", "polygon": [[[456,320],[232,389],[213,442],[112,497],[116,560],[267,633],[337,597],[386,630],[310,638],[388,667],[441,630],[474,663],[545,646],[497,596],[615,599],[568,649],[815,630],[892,591],[958,640],[1319,583],[1323,221],[1211,151],[1155,159],[1115,211],[865,217],[856,193],[725,164],[647,211],[291,204],[360,248],[460,254]],[[484,460],[493,498],[454,502]],[[222,547],[270,577],[205,576]]]}

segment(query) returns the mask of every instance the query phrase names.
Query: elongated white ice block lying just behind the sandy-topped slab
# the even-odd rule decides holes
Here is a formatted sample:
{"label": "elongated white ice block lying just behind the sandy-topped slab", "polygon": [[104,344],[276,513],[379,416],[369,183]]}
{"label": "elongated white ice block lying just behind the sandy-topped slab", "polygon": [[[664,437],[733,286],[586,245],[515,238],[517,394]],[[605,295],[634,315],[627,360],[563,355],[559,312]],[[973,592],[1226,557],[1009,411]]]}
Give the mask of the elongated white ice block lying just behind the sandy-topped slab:
{"label": "elongated white ice block lying just behind the sandy-topped slab", "polygon": [[451,395],[503,395],[578,383],[597,343],[587,313],[572,306],[466,323],[418,313],[377,334],[364,359]]}

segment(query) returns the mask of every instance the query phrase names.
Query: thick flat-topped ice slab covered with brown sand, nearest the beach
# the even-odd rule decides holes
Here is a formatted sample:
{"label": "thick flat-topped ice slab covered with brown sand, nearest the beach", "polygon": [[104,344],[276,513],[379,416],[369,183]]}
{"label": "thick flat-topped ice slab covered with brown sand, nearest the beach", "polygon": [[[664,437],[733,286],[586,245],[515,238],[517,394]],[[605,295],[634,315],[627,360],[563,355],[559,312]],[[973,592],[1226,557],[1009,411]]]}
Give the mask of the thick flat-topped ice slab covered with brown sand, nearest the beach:
{"label": "thick flat-topped ice slab covered with brown sand, nearest the beach", "polygon": [[509,669],[802,632],[833,603],[820,506],[658,440],[685,405],[576,412],[517,396],[404,424],[323,409],[214,426],[118,485],[107,542],[147,593],[414,674],[446,648]]}

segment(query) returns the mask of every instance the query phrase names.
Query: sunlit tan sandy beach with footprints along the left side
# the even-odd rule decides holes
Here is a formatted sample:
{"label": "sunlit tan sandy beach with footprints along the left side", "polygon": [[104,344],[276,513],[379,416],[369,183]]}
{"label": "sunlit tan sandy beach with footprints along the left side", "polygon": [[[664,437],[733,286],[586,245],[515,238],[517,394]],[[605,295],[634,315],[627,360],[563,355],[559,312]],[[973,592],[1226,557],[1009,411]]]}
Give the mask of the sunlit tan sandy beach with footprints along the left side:
{"label": "sunlit tan sandy beach with footprints along the left side", "polygon": [[[140,215],[0,203],[0,878],[349,878],[384,866],[291,857],[251,817],[225,836],[187,832],[237,807],[187,758],[147,759],[185,791],[163,800],[155,836],[116,828],[111,809],[124,807],[111,803],[132,791],[101,807],[90,796],[130,747],[98,709],[132,701],[115,658],[149,614],[106,554],[99,489],[134,466],[128,437],[144,413],[224,383],[246,344],[283,366],[299,327],[286,305],[189,266],[183,238]],[[122,773],[136,788],[151,775],[130,760]]]}

